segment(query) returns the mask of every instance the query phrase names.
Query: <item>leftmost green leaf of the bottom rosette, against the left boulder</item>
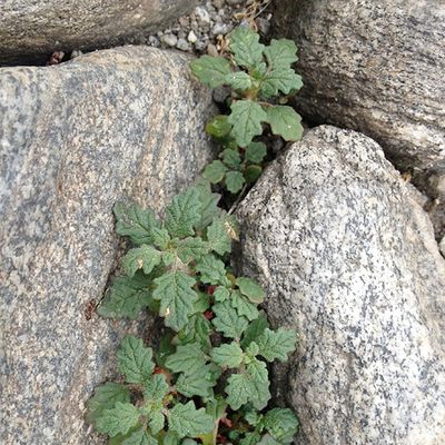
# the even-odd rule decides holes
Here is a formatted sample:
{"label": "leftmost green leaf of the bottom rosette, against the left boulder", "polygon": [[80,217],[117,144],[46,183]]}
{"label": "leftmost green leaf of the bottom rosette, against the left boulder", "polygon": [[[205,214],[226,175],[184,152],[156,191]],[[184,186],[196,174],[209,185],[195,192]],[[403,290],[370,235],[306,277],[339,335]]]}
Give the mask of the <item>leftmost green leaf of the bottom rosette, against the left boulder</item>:
{"label": "leftmost green leaf of the bottom rosette, against the left boulder", "polygon": [[88,400],[88,422],[95,423],[105,409],[111,409],[117,402],[130,402],[130,392],[125,385],[108,382],[95,389],[95,395]]}

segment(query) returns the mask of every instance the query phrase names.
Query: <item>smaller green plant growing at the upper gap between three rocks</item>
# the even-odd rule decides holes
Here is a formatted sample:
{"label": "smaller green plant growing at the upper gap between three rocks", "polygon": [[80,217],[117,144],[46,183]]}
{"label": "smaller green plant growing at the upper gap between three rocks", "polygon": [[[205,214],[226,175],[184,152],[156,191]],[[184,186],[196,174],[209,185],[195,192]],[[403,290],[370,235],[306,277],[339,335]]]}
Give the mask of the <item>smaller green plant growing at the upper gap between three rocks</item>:
{"label": "smaller green plant growing at the upper gap between three rocks", "polygon": [[298,60],[291,40],[274,39],[266,47],[255,31],[238,27],[230,34],[228,48],[227,57],[202,56],[190,62],[190,69],[210,88],[231,87],[230,113],[216,116],[206,126],[221,144],[222,152],[202,176],[237,194],[261,174],[267,148],[253,140],[263,135],[264,125],[287,141],[301,137],[300,116],[283,105],[286,97],[279,96],[295,93],[303,82],[291,68]]}

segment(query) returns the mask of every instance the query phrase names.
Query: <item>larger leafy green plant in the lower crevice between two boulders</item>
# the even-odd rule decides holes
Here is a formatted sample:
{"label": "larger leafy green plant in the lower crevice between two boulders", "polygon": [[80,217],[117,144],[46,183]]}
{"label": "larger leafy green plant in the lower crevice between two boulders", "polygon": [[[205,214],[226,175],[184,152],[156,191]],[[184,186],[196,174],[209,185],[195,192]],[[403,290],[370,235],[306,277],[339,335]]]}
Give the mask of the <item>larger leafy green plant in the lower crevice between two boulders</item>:
{"label": "larger leafy green plant in the lower crevice between two boulders", "polygon": [[166,328],[155,345],[126,336],[118,350],[125,382],[106,383],[88,418],[110,444],[289,444],[297,419],[265,412],[267,363],[286,360],[296,333],[273,330],[258,305],[261,287],[226,265],[238,235],[219,196],[201,180],[176,196],[164,221],[118,204],[118,234],[135,245],[121,260],[99,313],[135,318],[150,308]]}

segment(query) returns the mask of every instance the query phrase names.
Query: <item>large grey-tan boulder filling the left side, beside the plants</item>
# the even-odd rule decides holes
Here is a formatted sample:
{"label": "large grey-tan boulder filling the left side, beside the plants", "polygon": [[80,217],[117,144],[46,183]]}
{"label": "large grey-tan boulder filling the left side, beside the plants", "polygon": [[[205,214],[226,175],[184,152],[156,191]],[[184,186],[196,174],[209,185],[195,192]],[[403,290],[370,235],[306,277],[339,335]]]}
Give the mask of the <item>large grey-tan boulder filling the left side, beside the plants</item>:
{"label": "large grey-tan boulder filling the left side, beside the plants", "polygon": [[119,48],[0,70],[3,444],[96,443],[85,402],[126,329],[86,314],[115,266],[112,206],[160,210],[212,155],[188,60]]}

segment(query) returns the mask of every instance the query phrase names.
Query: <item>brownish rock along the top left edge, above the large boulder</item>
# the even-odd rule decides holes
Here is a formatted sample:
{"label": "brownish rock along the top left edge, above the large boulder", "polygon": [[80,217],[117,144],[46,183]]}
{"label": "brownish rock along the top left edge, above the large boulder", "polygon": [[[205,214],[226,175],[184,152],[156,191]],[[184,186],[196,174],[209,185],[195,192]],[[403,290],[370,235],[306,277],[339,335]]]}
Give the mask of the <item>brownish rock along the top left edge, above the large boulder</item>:
{"label": "brownish rock along the top left edge, above the large boulder", "polygon": [[194,9],[198,0],[2,0],[0,63],[56,50],[116,47]]}

